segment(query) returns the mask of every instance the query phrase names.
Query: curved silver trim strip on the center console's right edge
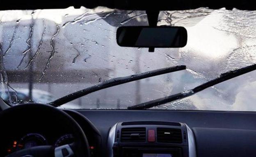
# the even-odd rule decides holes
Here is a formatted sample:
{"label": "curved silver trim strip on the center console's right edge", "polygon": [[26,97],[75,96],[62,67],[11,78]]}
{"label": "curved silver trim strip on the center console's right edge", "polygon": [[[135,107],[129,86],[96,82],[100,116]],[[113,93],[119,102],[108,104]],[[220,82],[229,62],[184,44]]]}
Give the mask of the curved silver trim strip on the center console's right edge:
{"label": "curved silver trim strip on the center console's right edge", "polygon": [[189,157],[197,157],[197,151],[196,151],[196,142],[194,139],[194,133],[190,129],[187,124],[185,124],[187,127],[187,139],[188,139],[188,156]]}

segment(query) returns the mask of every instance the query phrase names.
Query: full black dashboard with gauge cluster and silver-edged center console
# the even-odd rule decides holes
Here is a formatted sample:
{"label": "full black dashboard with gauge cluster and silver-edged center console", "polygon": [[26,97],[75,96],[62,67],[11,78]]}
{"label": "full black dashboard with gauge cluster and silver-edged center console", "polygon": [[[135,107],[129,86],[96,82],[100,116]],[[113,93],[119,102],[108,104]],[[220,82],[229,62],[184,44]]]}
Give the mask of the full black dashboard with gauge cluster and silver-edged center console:
{"label": "full black dashboard with gauge cluster and silver-edged center console", "polygon": [[[91,157],[254,157],[256,113],[64,110],[87,136]],[[24,115],[1,130],[0,153],[72,142],[65,122]],[[46,129],[47,128],[47,129]],[[15,146],[14,146],[15,145]],[[20,145],[20,146],[19,146]],[[18,148],[21,147],[21,148]],[[82,149],[82,148],[81,148]]]}

